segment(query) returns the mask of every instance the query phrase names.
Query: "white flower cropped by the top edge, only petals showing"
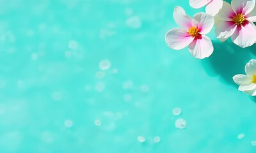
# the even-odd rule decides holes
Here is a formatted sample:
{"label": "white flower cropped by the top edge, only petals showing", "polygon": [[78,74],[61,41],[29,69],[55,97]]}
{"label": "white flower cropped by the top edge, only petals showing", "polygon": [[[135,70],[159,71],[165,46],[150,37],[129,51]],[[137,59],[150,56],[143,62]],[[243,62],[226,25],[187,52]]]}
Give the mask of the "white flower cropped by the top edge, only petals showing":
{"label": "white flower cropped by the top edge, only petals showing", "polygon": [[202,8],[206,5],[206,13],[215,16],[222,8],[223,0],[189,0],[192,8]]}

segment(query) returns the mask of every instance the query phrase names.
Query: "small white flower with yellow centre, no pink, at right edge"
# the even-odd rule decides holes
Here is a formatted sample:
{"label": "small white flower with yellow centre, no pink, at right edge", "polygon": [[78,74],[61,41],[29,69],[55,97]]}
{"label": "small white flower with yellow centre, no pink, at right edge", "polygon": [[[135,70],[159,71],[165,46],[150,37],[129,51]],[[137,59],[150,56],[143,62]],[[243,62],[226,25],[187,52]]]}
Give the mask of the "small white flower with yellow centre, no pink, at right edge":
{"label": "small white flower with yellow centre, no pink, at right edge", "polygon": [[239,85],[238,90],[256,96],[256,60],[251,59],[245,66],[246,75],[235,75],[234,82]]}

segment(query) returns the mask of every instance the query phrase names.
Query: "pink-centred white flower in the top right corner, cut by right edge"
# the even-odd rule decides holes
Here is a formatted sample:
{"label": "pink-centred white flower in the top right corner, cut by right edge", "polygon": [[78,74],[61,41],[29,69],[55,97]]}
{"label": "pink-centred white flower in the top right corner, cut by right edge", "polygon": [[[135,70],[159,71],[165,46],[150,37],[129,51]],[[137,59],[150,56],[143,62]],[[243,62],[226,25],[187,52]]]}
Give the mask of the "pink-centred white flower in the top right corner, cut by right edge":
{"label": "pink-centred white flower in the top right corner, cut by right edge", "polygon": [[239,47],[250,47],[256,41],[255,21],[255,0],[232,0],[231,5],[223,1],[216,17],[216,36],[222,42],[231,36]]}

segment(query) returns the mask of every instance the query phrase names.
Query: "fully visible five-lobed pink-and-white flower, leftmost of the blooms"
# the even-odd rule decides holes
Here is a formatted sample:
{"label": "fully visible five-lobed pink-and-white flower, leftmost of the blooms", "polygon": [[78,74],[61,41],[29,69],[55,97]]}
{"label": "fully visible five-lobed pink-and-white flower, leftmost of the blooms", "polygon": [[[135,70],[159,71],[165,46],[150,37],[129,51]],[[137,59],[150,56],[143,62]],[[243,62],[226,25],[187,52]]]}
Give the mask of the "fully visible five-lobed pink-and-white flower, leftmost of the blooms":
{"label": "fully visible five-lobed pink-and-white flower, leftmost of the blooms", "polygon": [[175,22],[182,28],[173,28],[165,35],[168,47],[180,50],[188,46],[189,52],[198,58],[209,57],[213,52],[212,41],[205,36],[211,31],[214,19],[207,13],[197,13],[193,19],[183,8],[176,6],[173,11]]}

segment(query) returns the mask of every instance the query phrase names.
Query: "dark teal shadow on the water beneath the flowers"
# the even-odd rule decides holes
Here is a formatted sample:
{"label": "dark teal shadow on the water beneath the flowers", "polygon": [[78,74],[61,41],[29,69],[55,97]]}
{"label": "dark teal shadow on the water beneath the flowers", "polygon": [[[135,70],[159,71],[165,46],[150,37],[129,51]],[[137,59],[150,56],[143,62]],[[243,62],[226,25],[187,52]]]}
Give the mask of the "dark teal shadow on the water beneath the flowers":
{"label": "dark teal shadow on the water beneath the flowers", "polygon": [[[223,43],[213,41],[214,52],[212,55],[202,60],[202,66],[211,77],[219,77],[221,82],[238,87],[232,77],[237,74],[245,74],[244,66],[250,59],[256,59],[256,44],[252,47],[241,48],[231,40]],[[256,98],[250,96],[252,101]]]}

